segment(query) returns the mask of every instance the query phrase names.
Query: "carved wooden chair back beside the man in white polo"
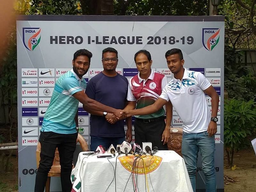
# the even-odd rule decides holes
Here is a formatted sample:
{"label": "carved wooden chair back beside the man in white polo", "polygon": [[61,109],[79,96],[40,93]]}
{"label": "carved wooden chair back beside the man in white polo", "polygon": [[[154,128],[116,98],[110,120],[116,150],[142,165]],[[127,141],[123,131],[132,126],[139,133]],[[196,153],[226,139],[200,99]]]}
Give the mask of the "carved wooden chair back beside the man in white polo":
{"label": "carved wooden chair back beside the man in white polo", "polygon": [[181,154],[181,143],[182,143],[182,128],[171,128],[170,130],[170,140],[168,141],[168,149],[173,150],[178,153],[180,156]]}

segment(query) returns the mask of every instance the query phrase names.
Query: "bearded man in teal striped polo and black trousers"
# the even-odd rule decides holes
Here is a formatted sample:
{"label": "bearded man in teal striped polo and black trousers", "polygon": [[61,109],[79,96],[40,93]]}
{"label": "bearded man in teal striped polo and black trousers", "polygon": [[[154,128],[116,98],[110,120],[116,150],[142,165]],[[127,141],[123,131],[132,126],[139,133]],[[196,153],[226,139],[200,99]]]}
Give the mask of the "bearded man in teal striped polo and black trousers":
{"label": "bearded man in teal striped polo and black trousers", "polygon": [[90,67],[92,53],[80,49],[74,53],[73,68],[57,80],[39,137],[41,144],[40,163],[36,174],[35,192],[44,192],[48,172],[52,167],[55,149],[58,147],[61,165],[61,187],[63,192],[70,192],[72,184],[73,154],[76,149],[77,108],[79,101],[92,110],[106,111],[119,119],[121,109],[103,105],[87,97],[84,93],[86,82],[83,76]]}

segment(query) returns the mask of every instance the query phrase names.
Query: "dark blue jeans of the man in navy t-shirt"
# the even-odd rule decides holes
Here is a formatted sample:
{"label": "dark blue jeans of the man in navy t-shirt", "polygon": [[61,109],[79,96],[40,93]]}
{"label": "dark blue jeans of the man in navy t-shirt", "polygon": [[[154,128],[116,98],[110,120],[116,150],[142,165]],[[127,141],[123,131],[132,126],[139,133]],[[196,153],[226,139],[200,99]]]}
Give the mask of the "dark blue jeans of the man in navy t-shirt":
{"label": "dark blue jeans of the man in navy t-shirt", "polygon": [[125,141],[125,137],[97,137],[91,136],[91,151],[95,151],[99,145],[102,145],[106,149],[110,147],[111,144],[114,145],[116,149],[116,145],[121,145]]}

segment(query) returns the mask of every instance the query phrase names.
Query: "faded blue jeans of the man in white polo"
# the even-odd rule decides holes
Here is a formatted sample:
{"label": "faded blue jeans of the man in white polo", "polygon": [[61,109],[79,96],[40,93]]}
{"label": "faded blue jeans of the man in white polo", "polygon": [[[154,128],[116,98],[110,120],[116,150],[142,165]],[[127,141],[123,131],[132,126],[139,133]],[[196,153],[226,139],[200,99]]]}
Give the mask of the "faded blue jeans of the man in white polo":
{"label": "faded blue jeans of the man in white polo", "polygon": [[198,151],[202,156],[202,171],[205,176],[206,192],[216,191],[214,168],[215,139],[207,131],[201,133],[183,132],[181,153],[185,160],[188,175],[194,192],[196,191],[196,164]]}

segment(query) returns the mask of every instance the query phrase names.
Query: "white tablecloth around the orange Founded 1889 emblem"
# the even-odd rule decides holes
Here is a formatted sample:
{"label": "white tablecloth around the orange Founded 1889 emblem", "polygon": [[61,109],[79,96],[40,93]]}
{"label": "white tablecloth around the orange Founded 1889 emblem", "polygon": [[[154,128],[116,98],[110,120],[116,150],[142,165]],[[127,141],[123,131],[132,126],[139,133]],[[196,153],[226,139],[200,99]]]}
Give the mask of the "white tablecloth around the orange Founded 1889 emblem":
{"label": "white tablecloth around the orange Founded 1889 emblem", "polygon": [[[76,167],[71,173],[72,192],[105,192],[107,188],[107,192],[115,192],[115,188],[116,192],[134,191],[131,176],[134,174],[127,171],[119,159],[116,164],[117,155],[107,159],[97,158],[96,155],[87,156],[83,153],[79,153]],[[145,174],[138,174],[138,192],[146,192],[145,186],[147,186],[147,192],[193,192],[187,168],[181,156],[171,150],[157,151],[155,156],[162,157],[162,161],[153,172],[146,174],[148,185],[145,184]],[[116,164],[116,187],[113,180],[114,169],[108,160],[114,167]]]}

